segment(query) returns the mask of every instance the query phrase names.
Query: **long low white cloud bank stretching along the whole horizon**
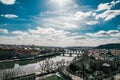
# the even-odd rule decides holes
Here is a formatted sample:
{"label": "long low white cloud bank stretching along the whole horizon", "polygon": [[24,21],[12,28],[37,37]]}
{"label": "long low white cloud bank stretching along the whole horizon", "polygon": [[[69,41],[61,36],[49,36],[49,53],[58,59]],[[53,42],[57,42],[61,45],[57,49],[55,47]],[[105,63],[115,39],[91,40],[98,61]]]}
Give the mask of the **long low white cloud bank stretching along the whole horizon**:
{"label": "long low white cloud bank stretching along the whole horizon", "polygon": [[[120,42],[118,30],[98,31],[91,35],[80,35],[55,28],[29,29],[28,31],[13,31],[13,36],[0,36],[3,44],[35,44],[41,46],[98,46],[100,44]],[[92,36],[92,37],[89,37]],[[102,36],[102,37],[101,37]],[[103,36],[111,36],[104,38]],[[101,37],[101,38],[99,38]]]}

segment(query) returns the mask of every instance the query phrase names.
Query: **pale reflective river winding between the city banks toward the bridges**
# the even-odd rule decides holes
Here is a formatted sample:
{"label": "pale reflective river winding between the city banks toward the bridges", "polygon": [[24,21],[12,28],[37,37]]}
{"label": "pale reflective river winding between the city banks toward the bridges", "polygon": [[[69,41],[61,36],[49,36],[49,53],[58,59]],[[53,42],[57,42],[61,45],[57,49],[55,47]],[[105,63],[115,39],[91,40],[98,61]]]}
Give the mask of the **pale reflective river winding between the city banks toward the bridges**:
{"label": "pale reflective river winding between the city banks toward the bridges", "polygon": [[43,60],[35,59],[35,60],[29,60],[29,61],[8,62],[8,63],[0,64],[0,67],[2,68],[2,70],[8,70],[8,71],[15,70],[16,72],[18,71],[17,76],[28,75],[28,74],[38,72],[40,68],[39,64],[44,62],[47,59],[52,60],[53,62],[59,62],[61,60],[70,62],[73,60],[75,56],[76,55],[72,55],[72,57],[70,57],[69,55],[65,54],[65,56],[59,55],[59,56],[54,56],[50,58],[44,58]]}

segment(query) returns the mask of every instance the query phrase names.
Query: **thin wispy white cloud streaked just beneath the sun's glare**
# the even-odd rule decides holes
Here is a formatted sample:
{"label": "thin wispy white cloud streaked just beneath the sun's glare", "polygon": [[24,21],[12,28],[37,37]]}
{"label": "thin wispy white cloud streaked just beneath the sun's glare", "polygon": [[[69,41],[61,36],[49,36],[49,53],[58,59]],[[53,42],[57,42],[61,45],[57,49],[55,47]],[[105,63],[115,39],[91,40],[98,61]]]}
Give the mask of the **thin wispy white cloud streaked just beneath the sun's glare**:
{"label": "thin wispy white cloud streaked just beneath the sun's glare", "polygon": [[[86,22],[92,16],[92,12],[82,12],[82,11],[47,11],[41,13],[40,16],[34,17],[36,24],[44,27],[53,27],[56,29],[63,30],[75,30],[75,29],[86,29]],[[41,18],[42,17],[42,18]],[[39,24],[39,22],[41,22]],[[88,28],[87,28],[88,29]]]}

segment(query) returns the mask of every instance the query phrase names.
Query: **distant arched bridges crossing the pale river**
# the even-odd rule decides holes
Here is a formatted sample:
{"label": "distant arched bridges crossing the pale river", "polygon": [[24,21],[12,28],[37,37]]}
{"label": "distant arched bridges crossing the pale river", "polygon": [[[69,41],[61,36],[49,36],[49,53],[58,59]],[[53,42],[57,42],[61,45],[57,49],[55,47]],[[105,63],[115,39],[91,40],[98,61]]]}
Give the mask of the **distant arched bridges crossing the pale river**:
{"label": "distant arched bridges crossing the pale river", "polygon": [[64,52],[62,53],[63,56],[65,56],[65,54],[69,54],[69,56],[77,55],[77,56],[81,56],[84,53],[88,53],[88,50],[85,49],[79,49],[79,50],[72,50],[72,49],[64,49]]}

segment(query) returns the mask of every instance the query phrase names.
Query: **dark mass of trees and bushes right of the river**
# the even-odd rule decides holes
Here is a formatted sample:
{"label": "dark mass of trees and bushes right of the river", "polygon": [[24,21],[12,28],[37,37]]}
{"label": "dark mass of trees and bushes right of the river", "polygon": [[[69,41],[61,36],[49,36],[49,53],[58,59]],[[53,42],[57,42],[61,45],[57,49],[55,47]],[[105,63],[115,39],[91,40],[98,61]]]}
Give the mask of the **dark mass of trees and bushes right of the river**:
{"label": "dark mass of trees and bushes right of the river", "polygon": [[114,75],[120,72],[120,59],[114,61],[96,60],[94,57],[83,56],[78,61],[70,64],[69,72],[85,80],[114,80]]}

